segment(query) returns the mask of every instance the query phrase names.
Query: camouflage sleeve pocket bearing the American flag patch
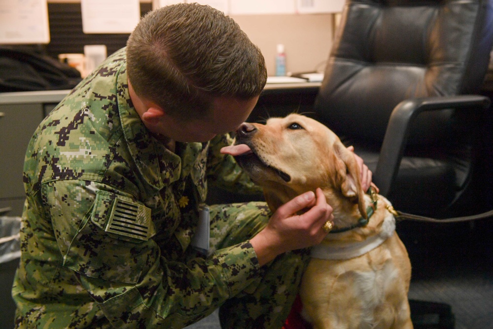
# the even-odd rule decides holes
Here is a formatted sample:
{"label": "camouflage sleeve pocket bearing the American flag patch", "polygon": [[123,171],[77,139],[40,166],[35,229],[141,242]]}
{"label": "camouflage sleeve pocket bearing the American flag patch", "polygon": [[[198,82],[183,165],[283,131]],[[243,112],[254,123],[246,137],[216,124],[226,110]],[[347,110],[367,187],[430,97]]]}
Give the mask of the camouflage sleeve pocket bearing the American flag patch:
{"label": "camouflage sleeve pocket bearing the American flag patch", "polygon": [[127,197],[97,191],[92,212],[72,239],[64,266],[93,278],[137,283],[145,264],[157,257],[157,248],[149,240],[154,234],[148,208]]}

